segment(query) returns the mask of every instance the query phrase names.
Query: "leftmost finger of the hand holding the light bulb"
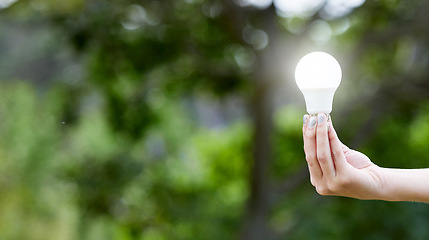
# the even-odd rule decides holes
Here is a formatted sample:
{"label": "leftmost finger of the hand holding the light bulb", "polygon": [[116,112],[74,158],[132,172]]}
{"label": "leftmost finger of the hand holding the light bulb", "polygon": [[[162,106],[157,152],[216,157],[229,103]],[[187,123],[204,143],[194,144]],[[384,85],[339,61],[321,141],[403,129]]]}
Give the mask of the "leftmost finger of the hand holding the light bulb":
{"label": "leftmost finger of the hand holding the light bulb", "polygon": [[305,126],[304,152],[311,178],[317,181],[323,174],[319,162],[317,161],[316,122],[316,117],[312,116],[308,119],[307,126]]}

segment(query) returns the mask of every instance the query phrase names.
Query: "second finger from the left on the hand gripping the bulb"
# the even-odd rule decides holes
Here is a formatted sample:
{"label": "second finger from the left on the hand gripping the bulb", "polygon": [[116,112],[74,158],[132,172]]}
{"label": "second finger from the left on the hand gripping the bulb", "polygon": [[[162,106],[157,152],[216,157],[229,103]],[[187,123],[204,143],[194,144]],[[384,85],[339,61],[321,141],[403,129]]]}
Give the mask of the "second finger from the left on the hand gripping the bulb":
{"label": "second finger from the left on the hand gripping the bulb", "polygon": [[317,115],[317,160],[323,176],[335,176],[334,162],[331,157],[331,148],[328,139],[327,117],[323,113]]}

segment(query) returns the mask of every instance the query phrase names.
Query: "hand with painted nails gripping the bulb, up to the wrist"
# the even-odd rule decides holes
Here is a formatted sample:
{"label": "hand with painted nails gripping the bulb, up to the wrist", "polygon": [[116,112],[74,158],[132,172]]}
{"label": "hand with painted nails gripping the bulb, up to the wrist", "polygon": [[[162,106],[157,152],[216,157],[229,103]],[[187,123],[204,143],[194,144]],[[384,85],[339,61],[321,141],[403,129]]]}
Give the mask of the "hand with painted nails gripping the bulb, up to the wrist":
{"label": "hand with painted nails gripping the bulb, up to the wrist", "polygon": [[325,114],[305,115],[302,131],[311,184],[319,194],[382,198],[380,168],[342,144]]}

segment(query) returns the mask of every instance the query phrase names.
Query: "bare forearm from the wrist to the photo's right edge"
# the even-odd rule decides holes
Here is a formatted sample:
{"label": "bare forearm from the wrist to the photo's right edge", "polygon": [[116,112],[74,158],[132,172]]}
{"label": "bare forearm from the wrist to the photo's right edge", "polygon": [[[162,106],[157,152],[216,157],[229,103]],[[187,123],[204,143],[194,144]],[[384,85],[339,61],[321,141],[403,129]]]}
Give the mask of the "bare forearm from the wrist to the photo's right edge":
{"label": "bare forearm from the wrist to the photo's right edge", "polygon": [[381,198],[429,203],[429,169],[380,168]]}

